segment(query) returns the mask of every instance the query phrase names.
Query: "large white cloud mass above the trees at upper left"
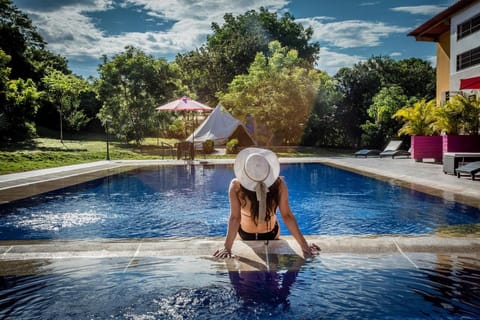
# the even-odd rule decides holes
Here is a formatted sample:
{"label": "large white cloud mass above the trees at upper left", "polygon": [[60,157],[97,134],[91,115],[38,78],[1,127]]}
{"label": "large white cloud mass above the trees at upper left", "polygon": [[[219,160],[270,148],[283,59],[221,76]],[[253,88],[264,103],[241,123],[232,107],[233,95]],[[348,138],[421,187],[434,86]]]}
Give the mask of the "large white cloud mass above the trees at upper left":
{"label": "large white cloud mass above the trees at upper left", "polygon": [[[211,33],[212,22],[222,23],[225,12],[234,15],[260,6],[271,11],[281,11],[287,0],[17,0],[17,5],[26,11],[34,21],[40,34],[52,51],[67,59],[82,56],[100,58],[122,52],[127,45],[133,45],[147,54],[173,57],[179,52],[195,49],[203,44]],[[145,33],[125,32],[109,35],[97,28],[95,21],[87,16],[89,12],[107,11],[120,6],[141,8],[149,17],[171,21],[169,29]],[[128,23],[128,22],[126,22]]]}

